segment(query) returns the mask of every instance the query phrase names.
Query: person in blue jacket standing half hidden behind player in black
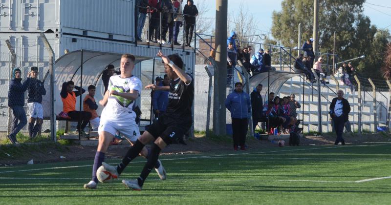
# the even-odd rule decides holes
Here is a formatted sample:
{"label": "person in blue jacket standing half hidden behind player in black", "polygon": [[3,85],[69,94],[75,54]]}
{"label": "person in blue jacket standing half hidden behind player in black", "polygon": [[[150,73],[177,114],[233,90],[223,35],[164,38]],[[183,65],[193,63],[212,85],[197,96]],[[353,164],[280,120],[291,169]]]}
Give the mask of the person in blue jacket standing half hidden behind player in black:
{"label": "person in blue jacket standing half hidden behind player in black", "polygon": [[[170,86],[170,78],[166,75],[164,75],[163,81],[159,82],[159,84],[156,84],[157,86]],[[166,111],[168,104],[168,91],[167,90],[156,90],[153,93],[152,97],[152,105],[153,105],[153,113],[155,114],[155,117],[159,117],[160,115],[164,114]]]}

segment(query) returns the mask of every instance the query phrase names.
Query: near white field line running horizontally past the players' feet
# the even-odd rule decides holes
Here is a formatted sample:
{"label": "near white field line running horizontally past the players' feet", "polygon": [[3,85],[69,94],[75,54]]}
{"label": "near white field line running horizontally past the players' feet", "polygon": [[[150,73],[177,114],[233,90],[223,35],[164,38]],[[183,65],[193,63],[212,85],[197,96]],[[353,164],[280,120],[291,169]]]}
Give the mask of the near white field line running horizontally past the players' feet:
{"label": "near white field line running horizontally past the players' feet", "polygon": [[[54,178],[54,177],[0,177],[0,180],[91,180],[91,178]],[[195,178],[191,178],[195,179]],[[117,179],[118,180],[118,179]],[[160,180],[160,179],[148,179],[148,180]],[[189,178],[170,178],[167,181],[183,181],[189,180]],[[258,182],[258,181],[271,181],[271,182],[316,182],[316,183],[355,183],[354,181],[324,181],[324,180],[278,180],[278,179],[195,179],[197,181],[214,181],[214,182]]]}

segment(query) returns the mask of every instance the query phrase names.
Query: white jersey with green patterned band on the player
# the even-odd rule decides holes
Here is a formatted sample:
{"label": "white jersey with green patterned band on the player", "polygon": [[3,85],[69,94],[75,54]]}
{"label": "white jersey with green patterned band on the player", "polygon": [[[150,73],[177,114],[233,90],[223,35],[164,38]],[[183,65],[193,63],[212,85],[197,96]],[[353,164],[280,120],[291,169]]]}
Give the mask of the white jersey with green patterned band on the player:
{"label": "white jersey with green patterned band on the player", "polygon": [[[141,93],[141,81],[137,77],[121,78],[120,75],[111,76],[109,80],[108,91],[115,90],[122,93],[130,93],[130,90],[137,90],[138,94]],[[118,118],[118,117],[130,117],[136,118],[136,114],[133,112],[134,101],[126,98],[111,95],[108,102],[102,111],[102,117],[104,118]]]}

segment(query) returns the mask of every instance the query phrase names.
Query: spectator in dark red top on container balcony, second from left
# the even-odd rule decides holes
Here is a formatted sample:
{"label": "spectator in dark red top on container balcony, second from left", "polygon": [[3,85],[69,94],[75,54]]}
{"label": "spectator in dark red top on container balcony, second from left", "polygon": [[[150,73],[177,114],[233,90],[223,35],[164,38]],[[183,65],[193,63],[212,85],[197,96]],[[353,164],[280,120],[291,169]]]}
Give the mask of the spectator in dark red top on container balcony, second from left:
{"label": "spectator in dark red top on container balcony, second from left", "polygon": [[149,22],[150,32],[148,42],[157,42],[156,40],[159,39],[160,27],[160,0],[149,0],[148,3],[150,5],[148,13],[151,15],[151,19]]}

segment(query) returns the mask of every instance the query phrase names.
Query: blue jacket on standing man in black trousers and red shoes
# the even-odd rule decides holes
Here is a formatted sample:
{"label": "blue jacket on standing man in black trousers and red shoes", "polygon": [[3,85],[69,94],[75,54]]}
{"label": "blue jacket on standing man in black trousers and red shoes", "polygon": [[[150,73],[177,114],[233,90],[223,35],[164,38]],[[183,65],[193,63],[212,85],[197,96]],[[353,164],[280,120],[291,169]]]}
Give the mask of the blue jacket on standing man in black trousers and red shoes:
{"label": "blue jacket on standing man in black trousers and red shoes", "polygon": [[238,93],[234,90],[225,100],[225,107],[231,112],[231,118],[248,118],[251,113],[250,96],[244,91]]}

